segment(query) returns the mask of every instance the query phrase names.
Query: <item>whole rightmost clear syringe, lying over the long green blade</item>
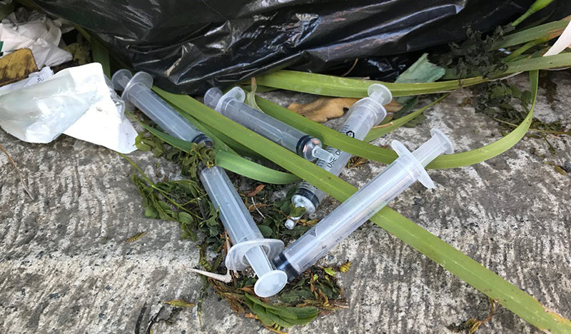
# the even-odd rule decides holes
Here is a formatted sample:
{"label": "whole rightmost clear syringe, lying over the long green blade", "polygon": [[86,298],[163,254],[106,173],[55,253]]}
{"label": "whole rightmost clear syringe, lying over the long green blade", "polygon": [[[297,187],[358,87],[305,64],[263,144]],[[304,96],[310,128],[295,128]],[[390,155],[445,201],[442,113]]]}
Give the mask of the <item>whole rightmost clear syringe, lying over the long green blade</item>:
{"label": "whole rightmost clear syringe, lying over the long green blade", "polygon": [[288,279],[292,280],[415,181],[420,181],[427,188],[434,188],[424,167],[442,153],[453,153],[454,148],[442,131],[433,129],[431,133],[432,138],[413,153],[400,141],[393,141],[393,149],[399,158],[273,258],[276,268],[284,270]]}

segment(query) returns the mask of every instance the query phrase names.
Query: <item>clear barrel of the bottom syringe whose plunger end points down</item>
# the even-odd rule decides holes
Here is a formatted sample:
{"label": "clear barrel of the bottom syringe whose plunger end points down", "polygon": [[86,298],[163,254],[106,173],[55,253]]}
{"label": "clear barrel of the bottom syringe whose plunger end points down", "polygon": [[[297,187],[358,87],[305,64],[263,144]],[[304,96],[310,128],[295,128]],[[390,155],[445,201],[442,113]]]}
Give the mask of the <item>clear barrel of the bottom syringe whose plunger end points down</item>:
{"label": "clear barrel of the bottom syringe whose plunger end points down", "polygon": [[208,197],[220,211],[220,219],[235,245],[263,238],[236,188],[222,168],[204,168],[199,177]]}

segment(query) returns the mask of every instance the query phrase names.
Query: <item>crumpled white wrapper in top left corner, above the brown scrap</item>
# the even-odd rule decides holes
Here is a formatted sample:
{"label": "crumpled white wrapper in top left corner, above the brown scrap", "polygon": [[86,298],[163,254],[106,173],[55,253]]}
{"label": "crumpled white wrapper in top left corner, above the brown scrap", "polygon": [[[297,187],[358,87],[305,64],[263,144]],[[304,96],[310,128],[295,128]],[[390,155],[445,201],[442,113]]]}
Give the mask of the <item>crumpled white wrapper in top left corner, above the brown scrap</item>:
{"label": "crumpled white wrapper in top left corner, above the brown scrap", "polygon": [[30,49],[39,69],[56,66],[74,57],[59,48],[61,41],[61,20],[51,20],[37,11],[20,8],[9,14],[0,23],[0,41],[4,42],[4,54],[19,49]]}

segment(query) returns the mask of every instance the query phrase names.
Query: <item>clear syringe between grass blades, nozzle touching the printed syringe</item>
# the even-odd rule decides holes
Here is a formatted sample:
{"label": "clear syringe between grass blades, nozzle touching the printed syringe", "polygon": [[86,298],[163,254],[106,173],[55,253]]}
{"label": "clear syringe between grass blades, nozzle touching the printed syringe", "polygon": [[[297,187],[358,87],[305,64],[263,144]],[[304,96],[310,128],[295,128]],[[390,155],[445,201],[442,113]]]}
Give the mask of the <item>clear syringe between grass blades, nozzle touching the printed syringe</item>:
{"label": "clear syringe between grass blades, nozzle touching the printed syringe", "polygon": [[240,87],[234,87],[226,94],[211,88],[204,95],[204,104],[308,161],[333,161],[333,154],[323,149],[318,138],[251,108],[244,103],[245,99],[246,93]]}

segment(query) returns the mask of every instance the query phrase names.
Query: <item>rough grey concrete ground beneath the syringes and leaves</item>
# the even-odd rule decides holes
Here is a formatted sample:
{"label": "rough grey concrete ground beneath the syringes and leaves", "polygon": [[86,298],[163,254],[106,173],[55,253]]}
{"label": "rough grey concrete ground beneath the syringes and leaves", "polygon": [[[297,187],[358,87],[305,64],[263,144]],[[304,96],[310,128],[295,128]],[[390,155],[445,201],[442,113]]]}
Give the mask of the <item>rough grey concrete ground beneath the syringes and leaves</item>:
{"label": "rough grey concrete ground beneath the syringes and leaves", "polygon": [[[570,129],[571,72],[554,76],[555,109],[541,90],[537,116],[560,119]],[[527,82],[525,76],[516,80]],[[499,139],[495,121],[459,106],[469,92],[450,96],[420,126],[376,143],[395,138],[415,148],[432,127],[443,129],[457,151]],[[281,103],[300,97],[270,96]],[[571,138],[549,140],[557,156],[545,141],[525,138],[484,163],[430,171],[437,188],[427,191],[417,183],[391,206],[569,318],[571,174],[563,176],[545,162],[571,161]],[[181,240],[175,223],[143,216],[131,167],[121,156],[65,136],[37,145],[0,131],[0,142],[36,196],[24,193],[0,155],[0,333],[135,333],[138,319],[144,333],[163,301],[198,302],[201,279],[188,271],[198,264],[196,245]],[[136,152],[131,158],[157,179],[177,174],[151,154]],[[382,169],[369,163],[345,171],[343,178],[363,186]],[[336,205],[328,201],[317,216]],[[141,231],[148,233],[124,242]],[[289,333],[451,333],[448,325],[487,315],[485,295],[373,224],[353,233],[326,261],[346,259],[353,267],[340,275],[340,283],[350,308]],[[203,298],[201,320],[205,333],[268,333],[255,320],[234,314],[211,290]],[[197,309],[185,309],[172,325],[153,330],[197,333]],[[480,332],[539,333],[501,307]]]}

